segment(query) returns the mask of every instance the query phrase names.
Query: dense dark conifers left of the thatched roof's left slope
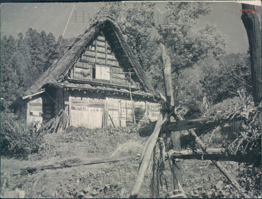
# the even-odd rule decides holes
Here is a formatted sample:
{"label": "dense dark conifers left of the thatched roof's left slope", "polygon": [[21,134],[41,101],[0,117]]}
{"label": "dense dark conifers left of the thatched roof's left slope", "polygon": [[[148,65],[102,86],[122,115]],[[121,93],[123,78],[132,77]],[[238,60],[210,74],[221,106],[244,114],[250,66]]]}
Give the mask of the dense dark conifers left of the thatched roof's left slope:
{"label": "dense dark conifers left of the thatched roof's left slope", "polygon": [[52,33],[46,35],[31,28],[17,38],[1,38],[1,111],[8,111],[8,106],[19,100],[61,55],[67,42],[63,39],[58,49],[61,39],[56,41]]}

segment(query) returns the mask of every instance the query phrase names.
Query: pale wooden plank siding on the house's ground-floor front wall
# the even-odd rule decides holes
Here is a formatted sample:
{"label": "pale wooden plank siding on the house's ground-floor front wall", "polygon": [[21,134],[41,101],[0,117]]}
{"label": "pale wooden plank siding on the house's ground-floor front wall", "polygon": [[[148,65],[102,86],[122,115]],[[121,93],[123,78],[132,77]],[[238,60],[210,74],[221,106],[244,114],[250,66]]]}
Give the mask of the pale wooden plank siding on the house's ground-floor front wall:
{"label": "pale wooden plank siding on the house's ground-floor front wall", "polygon": [[[107,126],[113,126],[108,115],[111,116],[115,126],[133,125],[133,109],[130,96],[121,94],[92,93],[72,90],[71,105],[72,119],[70,125],[86,128],[103,126],[106,118]],[[148,101],[135,101],[135,117],[137,122],[156,121],[160,105]],[[104,116],[103,114],[106,114]]]}

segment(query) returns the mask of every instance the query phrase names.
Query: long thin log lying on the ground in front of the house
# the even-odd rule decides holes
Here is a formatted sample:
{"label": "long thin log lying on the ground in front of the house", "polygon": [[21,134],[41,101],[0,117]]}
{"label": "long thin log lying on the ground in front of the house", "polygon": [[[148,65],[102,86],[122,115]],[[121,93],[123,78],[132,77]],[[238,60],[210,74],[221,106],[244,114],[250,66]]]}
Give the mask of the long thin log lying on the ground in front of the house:
{"label": "long thin log lying on the ground in front of the house", "polygon": [[[103,160],[94,160],[94,161],[90,161],[90,160],[84,160],[81,162],[74,162],[74,163],[65,163],[65,164],[50,164],[50,165],[43,165],[43,166],[37,166],[37,167],[26,167],[26,168],[21,168],[21,172],[17,173],[17,174],[13,174],[14,175],[27,175],[29,173],[34,173],[37,171],[43,171],[46,169],[61,169],[61,168],[66,168],[66,167],[73,167],[73,166],[81,166],[81,165],[90,165],[90,164],[100,164],[100,163],[106,163],[106,162],[119,162],[122,160],[127,160],[127,159],[131,159],[132,157],[126,157],[126,158],[122,158],[122,159],[112,159],[112,158],[108,158],[108,159],[103,159]],[[134,159],[138,160],[140,159],[139,157],[134,157]]]}

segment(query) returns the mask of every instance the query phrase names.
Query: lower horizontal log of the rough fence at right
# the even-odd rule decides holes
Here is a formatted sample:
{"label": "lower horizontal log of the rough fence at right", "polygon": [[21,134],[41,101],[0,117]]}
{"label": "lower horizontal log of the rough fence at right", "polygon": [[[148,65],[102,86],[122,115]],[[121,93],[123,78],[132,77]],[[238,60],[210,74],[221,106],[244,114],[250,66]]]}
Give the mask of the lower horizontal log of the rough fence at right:
{"label": "lower horizontal log of the rough fence at right", "polygon": [[173,151],[171,150],[172,159],[197,159],[197,160],[215,160],[215,161],[234,161],[241,163],[250,163],[255,162],[256,157],[250,157],[250,155],[236,155],[228,154],[225,152],[224,148],[208,148],[206,152],[201,149],[192,150],[182,150],[182,151]]}

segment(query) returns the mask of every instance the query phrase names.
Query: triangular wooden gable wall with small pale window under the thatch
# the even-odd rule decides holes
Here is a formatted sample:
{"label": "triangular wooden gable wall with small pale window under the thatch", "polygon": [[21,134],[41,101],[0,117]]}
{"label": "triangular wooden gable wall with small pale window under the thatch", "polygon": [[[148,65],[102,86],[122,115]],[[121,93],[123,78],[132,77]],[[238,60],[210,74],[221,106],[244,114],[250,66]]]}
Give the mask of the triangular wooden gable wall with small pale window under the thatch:
{"label": "triangular wooden gable wall with small pale window under the thatch", "polygon": [[[85,47],[69,71],[68,79],[128,86],[130,76],[124,70],[125,62],[121,62],[120,53],[115,53],[108,43],[101,31],[91,44]],[[130,83],[132,87],[139,87],[139,83],[132,78]]]}

